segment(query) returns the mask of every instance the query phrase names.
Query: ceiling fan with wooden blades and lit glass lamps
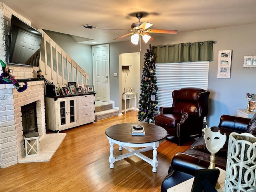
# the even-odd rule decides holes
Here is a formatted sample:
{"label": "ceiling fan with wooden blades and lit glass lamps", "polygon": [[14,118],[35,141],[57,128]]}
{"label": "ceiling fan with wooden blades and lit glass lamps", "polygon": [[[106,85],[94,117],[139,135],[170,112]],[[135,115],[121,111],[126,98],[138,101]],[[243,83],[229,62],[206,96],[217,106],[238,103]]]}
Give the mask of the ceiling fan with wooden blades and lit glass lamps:
{"label": "ceiling fan with wooden blades and lit glass lamps", "polygon": [[138,44],[142,39],[144,40],[145,43],[147,43],[149,40],[152,41],[154,38],[150,36],[149,33],[164,33],[164,34],[177,34],[177,30],[166,30],[166,29],[148,29],[151,27],[153,24],[149,22],[140,22],[140,19],[143,17],[142,13],[137,13],[136,17],[138,18],[139,22],[133,23],[132,24],[132,29],[105,29],[105,30],[126,30],[130,31],[130,33],[122,35],[120,37],[114,38],[115,39],[120,39],[129,35],[131,36],[131,41],[133,44]]}

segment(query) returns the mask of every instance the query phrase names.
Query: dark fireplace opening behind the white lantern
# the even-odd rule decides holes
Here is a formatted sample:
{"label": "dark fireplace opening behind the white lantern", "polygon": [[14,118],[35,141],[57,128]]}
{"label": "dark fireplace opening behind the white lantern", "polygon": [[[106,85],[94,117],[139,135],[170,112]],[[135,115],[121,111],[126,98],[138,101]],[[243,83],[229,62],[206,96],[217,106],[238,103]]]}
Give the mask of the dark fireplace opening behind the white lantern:
{"label": "dark fireplace opening behind the white lantern", "polygon": [[37,121],[36,121],[36,102],[27,104],[21,107],[21,116],[22,116],[22,127],[23,127],[23,136],[25,136],[29,129],[32,127],[36,132]]}

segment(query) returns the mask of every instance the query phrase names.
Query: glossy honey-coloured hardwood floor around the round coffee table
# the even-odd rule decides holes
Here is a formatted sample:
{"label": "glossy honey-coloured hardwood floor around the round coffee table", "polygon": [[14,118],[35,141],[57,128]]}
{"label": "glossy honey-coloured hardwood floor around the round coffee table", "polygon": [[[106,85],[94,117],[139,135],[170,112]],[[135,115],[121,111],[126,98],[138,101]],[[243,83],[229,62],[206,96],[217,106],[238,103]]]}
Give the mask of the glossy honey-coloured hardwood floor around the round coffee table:
{"label": "glossy honey-coloured hardwood floor around the round coffee table", "polygon": [[[1,192],[159,192],[174,154],[187,150],[191,142],[177,146],[167,140],[158,148],[157,172],[137,156],[109,168],[105,130],[124,122],[138,122],[137,111],[128,111],[86,126],[66,130],[67,135],[50,162],[19,163],[0,169]],[[118,150],[114,155],[127,151]],[[152,150],[144,152],[152,158]]]}

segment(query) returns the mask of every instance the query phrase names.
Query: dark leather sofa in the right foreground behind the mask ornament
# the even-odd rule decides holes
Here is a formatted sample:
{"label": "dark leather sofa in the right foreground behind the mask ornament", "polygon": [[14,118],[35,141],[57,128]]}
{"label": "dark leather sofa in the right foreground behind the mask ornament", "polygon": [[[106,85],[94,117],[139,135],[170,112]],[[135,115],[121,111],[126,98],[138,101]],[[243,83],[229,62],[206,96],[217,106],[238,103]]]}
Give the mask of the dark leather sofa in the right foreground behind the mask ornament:
{"label": "dark leather sofa in the right foreground behind the mask ornament", "polygon": [[[212,127],[213,131],[222,134],[226,133],[227,140],[223,148],[216,153],[216,167],[226,170],[226,157],[228,150],[228,137],[231,132],[248,132],[256,136],[256,114],[253,118],[247,119],[236,116],[222,115],[218,127]],[[184,153],[177,153],[172,158],[168,175],[164,178],[161,192],[166,192],[168,188],[192,178],[196,170],[206,169],[210,164],[210,152],[206,148],[204,137],[201,136],[192,144],[190,149]]]}

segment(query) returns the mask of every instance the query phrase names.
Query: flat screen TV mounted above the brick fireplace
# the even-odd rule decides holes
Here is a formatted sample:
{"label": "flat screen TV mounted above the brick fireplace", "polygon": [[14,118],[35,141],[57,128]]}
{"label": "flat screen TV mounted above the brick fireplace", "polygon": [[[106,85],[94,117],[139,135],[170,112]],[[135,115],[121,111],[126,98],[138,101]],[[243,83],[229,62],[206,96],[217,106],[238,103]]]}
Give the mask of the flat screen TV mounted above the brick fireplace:
{"label": "flat screen TV mounted above the brick fireplace", "polygon": [[42,33],[12,15],[9,64],[39,66]]}

